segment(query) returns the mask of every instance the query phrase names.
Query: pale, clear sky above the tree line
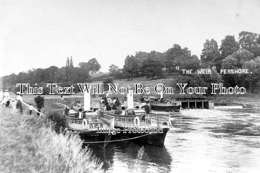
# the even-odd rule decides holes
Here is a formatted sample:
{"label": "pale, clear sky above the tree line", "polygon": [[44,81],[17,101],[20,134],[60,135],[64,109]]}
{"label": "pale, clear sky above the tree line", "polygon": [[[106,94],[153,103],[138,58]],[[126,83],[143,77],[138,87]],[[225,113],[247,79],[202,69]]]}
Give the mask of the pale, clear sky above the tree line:
{"label": "pale, clear sky above the tree line", "polygon": [[0,76],[71,56],[107,72],[139,51],[179,44],[200,57],[206,39],[260,34],[260,0],[0,0],[0,21]]}

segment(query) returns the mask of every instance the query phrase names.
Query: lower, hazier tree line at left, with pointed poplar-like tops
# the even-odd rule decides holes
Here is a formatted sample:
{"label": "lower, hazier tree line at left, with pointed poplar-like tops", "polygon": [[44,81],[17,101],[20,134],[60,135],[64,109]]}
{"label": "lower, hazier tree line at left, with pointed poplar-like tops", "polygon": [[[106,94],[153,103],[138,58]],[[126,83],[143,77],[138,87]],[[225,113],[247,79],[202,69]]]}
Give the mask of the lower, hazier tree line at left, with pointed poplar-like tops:
{"label": "lower, hazier tree line at left, with pointed poplar-like tops", "polygon": [[16,84],[29,83],[32,87],[43,87],[43,94],[48,93],[46,83],[58,83],[61,87],[68,87],[78,82],[91,82],[90,74],[100,70],[100,64],[96,58],[90,59],[88,62],[81,62],[74,67],[72,57],[67,57],[64,67],[58,68],[51,66],[47,69],[30,69],[19,74],[10,74],[0,78],[0,88],[8,88],[14,92],[19,88]]}

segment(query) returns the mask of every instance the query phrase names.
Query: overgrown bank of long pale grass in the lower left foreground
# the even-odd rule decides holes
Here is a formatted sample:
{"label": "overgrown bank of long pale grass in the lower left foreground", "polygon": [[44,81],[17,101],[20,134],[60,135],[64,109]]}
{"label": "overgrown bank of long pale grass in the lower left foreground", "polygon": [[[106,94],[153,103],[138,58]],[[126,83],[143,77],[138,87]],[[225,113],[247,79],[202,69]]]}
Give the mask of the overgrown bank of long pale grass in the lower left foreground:
{"label": "overgrown bank of long pale grass in the lower left foreground", "polygon": [[57,134],[44,119],[0,105],[0,172],[100,172],[102,164],[91,156],[79,137]]}

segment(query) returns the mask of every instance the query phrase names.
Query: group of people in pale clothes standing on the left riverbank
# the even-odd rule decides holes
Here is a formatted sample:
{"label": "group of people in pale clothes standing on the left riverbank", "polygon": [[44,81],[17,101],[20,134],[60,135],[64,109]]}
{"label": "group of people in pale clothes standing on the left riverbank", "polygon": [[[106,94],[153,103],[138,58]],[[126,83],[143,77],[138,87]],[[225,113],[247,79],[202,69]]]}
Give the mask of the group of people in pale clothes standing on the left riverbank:
{"label": "group of people in pale clothes standing on the left riverbank", "polygon": [[[19,109],[20,113],[23,112],[22,109],[22,102],[23,98],[20,93],[17,93],[16,100],[12,99],[10,97],[10,93],[8,92],[8,89],[5,89],[3,92],[3,89],[0,90],[0,104],[4,105],[4,107],[11,107],[13,110]],[[32,114],[32,110],[34,109],[34,106],[30,104],[29,106],[29,115]],[[40,112],[40,109],[38,109],[38,112]],[[40,115],[40,113],[37,113],[37,115]]]}

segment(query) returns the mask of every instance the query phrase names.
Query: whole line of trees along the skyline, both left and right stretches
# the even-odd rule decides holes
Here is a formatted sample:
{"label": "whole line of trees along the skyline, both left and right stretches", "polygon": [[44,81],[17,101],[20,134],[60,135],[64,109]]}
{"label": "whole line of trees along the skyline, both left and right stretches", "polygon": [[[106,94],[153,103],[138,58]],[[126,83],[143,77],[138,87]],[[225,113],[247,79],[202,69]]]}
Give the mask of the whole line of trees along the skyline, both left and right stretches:
{"label": "whole line of trees along the skyline, both left and right stretches", "polygon": [[[182,74],[180,69],[207,69],[216,67],[212,74]],[[68,57],[64,67],[51,66],[47,69],[31,69],[19,74],[11,74],[0,78],[1,88],[17,89],[17,83],[38,84],[45,87],[46,83],[60,83],[70,86],[79,82],[91,82],[90,74],[100,70],[95,58],[81,62],[74,67],[72,57]],[[252,74],[222,74],[220,69],[249,69]],[[260,89],[260,35],[251,32],[240,32],[239,40],[234,35],[226,35],[220,48],[214,39],[207,39],[203,44],[200,59],[192,55],[188,48],[174,44],[165,52],[136,52],[127,55],[122,69],[112,64],[109,73],[113,79],[132,80],[136,77],[158,79],[171,75],[181,75],[180,83],[188,83],[191,87],[207,87],[210,83],[223,83],[227,87],[245,87],[257,93]],[[111,80],[109,80],[111,81]],[[10,88],[10,86],[12,86]],[[210,86],[209,86],[210,87]]]}

